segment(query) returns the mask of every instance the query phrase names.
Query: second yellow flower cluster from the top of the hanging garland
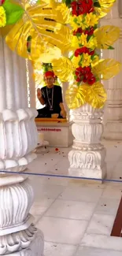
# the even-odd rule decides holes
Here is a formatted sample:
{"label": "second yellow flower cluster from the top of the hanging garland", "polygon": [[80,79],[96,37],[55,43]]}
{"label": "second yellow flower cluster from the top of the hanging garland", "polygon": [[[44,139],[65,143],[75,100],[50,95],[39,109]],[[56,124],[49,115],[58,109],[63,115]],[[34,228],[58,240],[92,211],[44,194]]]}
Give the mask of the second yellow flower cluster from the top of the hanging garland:
{"label": "second yellow flower cluster from the top of the hanging garland", "polygon": [[73,36],[72,48],[76,49],[79,48],[79,46],[91,48],[92,50],[94,50],[98,46],[97,39],[94,35],[92,35],[87,42],[87,35],[85,35],[84,33],[82,33],[82,35],[80,35],[79,37]]}

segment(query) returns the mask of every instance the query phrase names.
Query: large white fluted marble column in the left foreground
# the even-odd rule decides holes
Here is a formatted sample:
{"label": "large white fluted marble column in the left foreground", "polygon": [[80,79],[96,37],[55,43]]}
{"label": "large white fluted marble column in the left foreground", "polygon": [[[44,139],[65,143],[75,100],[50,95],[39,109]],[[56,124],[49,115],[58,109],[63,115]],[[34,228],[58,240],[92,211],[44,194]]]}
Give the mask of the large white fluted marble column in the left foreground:
{"label": "large white fluted marble column in the left foreground", "polygon": [[[35,158],[35,109],[28,108],[26,65],[0,38],[0,170],[24,172]],[[0,173],[0,255],[43,255],[43,234],[29,213],[28,176]]]}

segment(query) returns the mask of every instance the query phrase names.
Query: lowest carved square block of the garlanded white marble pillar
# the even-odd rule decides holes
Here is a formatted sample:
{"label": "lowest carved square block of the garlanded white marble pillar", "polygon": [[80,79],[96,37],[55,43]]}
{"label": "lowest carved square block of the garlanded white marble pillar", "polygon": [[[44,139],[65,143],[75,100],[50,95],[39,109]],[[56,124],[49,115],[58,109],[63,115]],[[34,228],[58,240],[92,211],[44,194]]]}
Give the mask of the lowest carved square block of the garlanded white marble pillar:
{"label": "lowest carved square block of the garlanded white marble pillar", "polygon": [[71,150],[68,153],[70,176],[104,179],[106,176],[105,149],[98,151]]}

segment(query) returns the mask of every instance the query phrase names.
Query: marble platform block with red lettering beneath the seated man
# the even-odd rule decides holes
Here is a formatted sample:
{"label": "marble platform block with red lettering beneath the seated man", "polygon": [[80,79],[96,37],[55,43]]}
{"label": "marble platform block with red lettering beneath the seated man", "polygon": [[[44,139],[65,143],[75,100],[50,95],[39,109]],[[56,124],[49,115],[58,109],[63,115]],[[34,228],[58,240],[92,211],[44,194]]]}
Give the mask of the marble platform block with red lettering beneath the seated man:
{"label": "marble platform block with red lettering beneath the seated man", "polygon": [[72,122],[36,122],[38,132],[43,132],[50,147],[70,147],[73,141]]}

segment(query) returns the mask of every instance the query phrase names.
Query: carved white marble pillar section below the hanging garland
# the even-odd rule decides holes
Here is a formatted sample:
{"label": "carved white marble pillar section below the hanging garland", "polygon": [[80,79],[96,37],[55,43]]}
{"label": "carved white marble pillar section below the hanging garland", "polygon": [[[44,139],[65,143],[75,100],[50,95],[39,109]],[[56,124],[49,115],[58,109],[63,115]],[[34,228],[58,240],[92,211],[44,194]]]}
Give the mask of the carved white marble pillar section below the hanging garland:
{"label": "carved white marble pillar section below the hanging garland", "polygon": [[105,178],[105,148],[100,142],[102,115],[102,109],[93,109],[88,104],[72,111],[72,134],[75,139],[68,153],[71,176]]}

